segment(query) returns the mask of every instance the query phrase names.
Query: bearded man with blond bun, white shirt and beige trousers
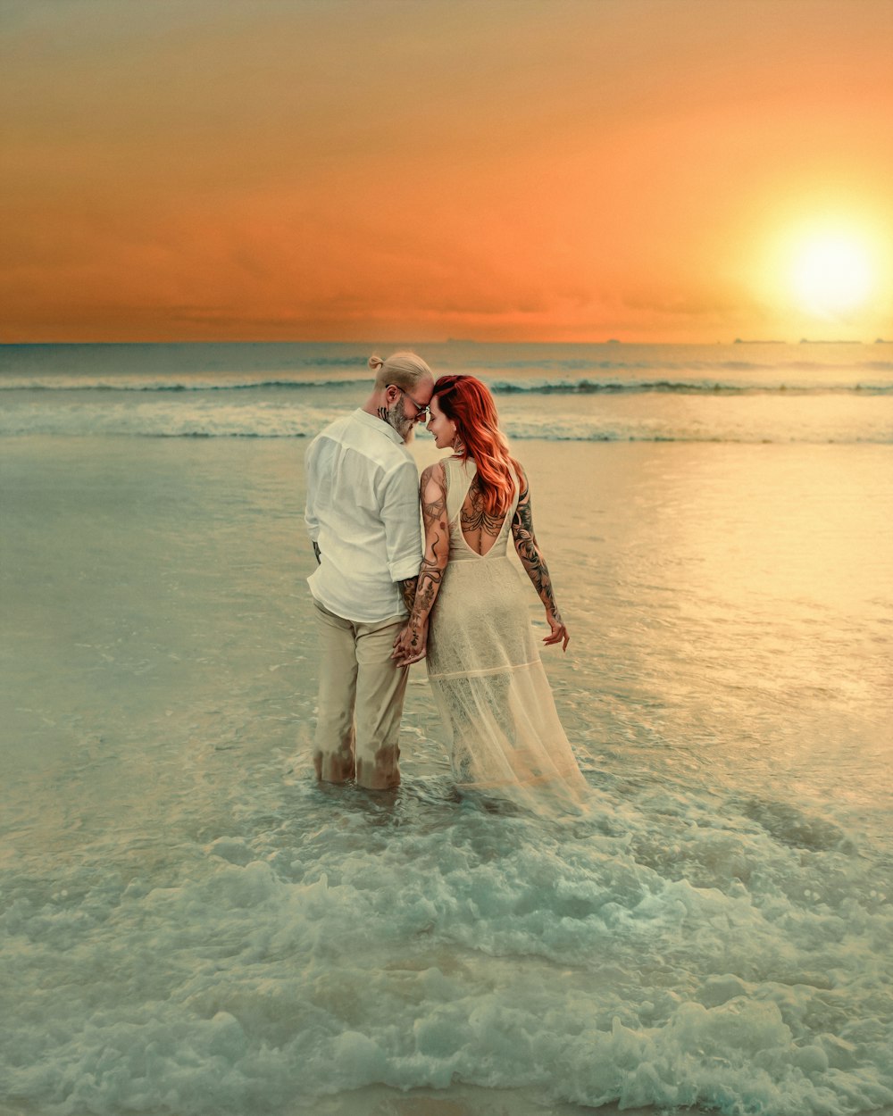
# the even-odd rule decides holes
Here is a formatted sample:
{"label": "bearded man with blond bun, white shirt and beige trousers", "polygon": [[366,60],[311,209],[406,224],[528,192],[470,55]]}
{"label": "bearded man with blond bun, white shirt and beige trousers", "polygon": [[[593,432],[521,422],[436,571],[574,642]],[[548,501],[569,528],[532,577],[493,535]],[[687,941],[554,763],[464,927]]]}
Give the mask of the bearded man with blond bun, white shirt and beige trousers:
{"label": "bearded man with blond bun, white shirt and beige trousers", "polygon": [[412,609],[422,537],[419,474],[406,443],[428,417],[434,376],[414,353],[373,356],[375,387],[307,450],[308,578],[319,632],[318,779],[400,785],[407,666],[392,658]]}

